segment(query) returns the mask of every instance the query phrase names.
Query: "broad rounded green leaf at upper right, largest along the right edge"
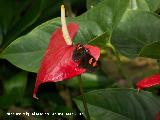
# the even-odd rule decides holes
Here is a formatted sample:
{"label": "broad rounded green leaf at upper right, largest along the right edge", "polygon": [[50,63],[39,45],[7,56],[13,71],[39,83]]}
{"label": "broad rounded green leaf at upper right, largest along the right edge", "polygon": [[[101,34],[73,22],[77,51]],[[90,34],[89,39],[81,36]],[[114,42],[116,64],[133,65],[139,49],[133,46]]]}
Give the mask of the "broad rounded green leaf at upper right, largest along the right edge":
{"label": "broad rounded green leaf at upper right, largest along the right edge", "polygon": [[112,44],[123,55],[137,57],[143,47],[160,41],[159,31],[160,17],[158,15],[129,10],[113,31]]}

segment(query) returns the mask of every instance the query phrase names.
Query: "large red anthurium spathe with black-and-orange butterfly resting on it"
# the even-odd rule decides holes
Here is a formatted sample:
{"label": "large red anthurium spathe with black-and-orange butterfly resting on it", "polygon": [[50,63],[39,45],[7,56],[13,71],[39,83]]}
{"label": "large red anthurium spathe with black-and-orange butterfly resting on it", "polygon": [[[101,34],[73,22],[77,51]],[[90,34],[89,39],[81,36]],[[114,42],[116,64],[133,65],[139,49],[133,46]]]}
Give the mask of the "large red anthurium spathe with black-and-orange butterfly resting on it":
{"label": "large red anthurium spathe with black-and-orange butterfly resting on it", "polygon": [[[70,38],[73,40],[78,31],[78,24],[69,23],[67,25]],[[80,58],[79,58],[80,56]],[[41,62],[33,97],[40,84],[45,82],[63,81],[74,76],[78,76],[88,70],[86,61],[91,67],[95,67],[100,56],[100,49],[91,45],[67,45],[61,28],[57,28],[51,35],[50,43]]]}

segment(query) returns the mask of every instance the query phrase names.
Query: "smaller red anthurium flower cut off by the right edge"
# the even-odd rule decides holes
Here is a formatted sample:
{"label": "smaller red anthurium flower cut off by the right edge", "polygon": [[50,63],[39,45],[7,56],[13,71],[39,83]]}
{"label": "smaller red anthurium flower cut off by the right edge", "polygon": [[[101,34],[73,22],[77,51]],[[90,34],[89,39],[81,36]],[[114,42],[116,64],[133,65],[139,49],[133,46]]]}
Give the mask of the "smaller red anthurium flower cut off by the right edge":
{"label": "smaller red anthurium flower cut off by the right edge", "polygon": [[144,78],[136,84],[138,90],[149,88],[155,85],[160,85],[160,74],[155,74],[150,77]]}

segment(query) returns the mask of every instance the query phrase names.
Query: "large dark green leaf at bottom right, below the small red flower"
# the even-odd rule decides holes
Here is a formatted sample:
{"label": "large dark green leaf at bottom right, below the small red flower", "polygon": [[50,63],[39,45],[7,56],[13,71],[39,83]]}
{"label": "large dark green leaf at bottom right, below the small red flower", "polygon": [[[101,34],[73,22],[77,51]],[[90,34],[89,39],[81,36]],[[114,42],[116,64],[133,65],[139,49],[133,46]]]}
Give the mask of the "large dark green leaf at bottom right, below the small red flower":
{"label": "large dark green leaf at bottom right, below the small red flower", "polygon": [[[94,120],[155,120],[160,111],[160,99],[145,91],[102,89],[85,95],[90,116]],[[75,102],[84,113],[80,97]]]}

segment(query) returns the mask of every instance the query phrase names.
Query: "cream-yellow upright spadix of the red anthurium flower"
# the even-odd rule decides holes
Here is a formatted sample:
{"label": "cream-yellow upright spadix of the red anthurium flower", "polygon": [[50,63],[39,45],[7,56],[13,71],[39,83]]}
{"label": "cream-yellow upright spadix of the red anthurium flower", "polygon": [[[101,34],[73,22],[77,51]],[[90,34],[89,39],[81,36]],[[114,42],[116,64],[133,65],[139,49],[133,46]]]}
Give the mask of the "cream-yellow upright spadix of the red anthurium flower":
{"label": "cream-yellow upright spadix of the red anthurium flower", "polygon": [[62,24],[62,33],[63,33],[64,40],[66,41],[67,45],[72,45],[72,40],[69,36],[67,25],[66,25],[64,5],[61,5],[61,24]]}

